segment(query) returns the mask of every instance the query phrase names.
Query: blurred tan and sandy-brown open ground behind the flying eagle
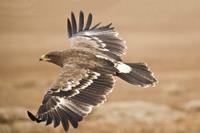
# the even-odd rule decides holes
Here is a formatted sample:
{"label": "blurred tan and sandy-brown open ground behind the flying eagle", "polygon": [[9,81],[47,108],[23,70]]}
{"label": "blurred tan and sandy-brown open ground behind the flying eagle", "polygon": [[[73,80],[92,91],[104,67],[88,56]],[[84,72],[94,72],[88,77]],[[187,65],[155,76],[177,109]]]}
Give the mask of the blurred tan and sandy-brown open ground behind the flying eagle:
{"label": "blurred tan and sandy-brown open ground behind the flying eagle", "polygon": [[0,133],[64,132],[27,118],[36,111],[59,68],[39,63],[69,48],[66,18],[92,12],[126,40],[126,62],[148,62],[153,88],[117,79],[108,100],[71,133],[200,132],[199,0],[0,0]]}

